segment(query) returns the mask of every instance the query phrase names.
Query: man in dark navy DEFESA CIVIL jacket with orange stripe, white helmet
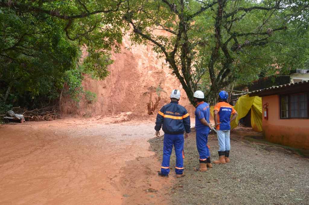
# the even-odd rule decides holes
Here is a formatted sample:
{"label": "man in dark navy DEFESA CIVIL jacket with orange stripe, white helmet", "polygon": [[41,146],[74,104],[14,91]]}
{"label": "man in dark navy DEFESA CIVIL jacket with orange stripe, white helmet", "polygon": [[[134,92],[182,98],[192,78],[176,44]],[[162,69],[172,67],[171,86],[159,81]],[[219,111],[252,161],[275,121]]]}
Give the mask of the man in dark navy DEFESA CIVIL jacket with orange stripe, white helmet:
{"label": "man in dark navy DEFESA CIVIL jacket with orange stripe, white helmet", "polygon": [[184,131],[185,138],[190,133],[190,116],[186,108],[178,104],[180,99],[180,90],[174,89],[171,92],[171,102],[164,105],[157,114],[155,122],[156,135],[159,136],[159,130],[162,127],[164,132],[163,140],[163,160],[159,176],[168,177],[170,172],[170,157],[173,145],[176,153],[176,177],[184,176]]}

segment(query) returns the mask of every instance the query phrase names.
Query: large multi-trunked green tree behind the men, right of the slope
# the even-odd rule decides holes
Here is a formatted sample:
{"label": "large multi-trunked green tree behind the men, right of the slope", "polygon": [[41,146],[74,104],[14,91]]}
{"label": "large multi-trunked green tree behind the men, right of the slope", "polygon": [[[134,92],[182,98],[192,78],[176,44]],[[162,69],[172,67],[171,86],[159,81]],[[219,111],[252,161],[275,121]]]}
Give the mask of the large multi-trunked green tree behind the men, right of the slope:
{"label": "large multi-trunked green tree behind the men, right of the slope", "polygon": [[231,84],[303,67],[308,57],[306,0],[132,0],[124,7],[132,41],[154,45],[193,104],[197,89],[214,99]]}

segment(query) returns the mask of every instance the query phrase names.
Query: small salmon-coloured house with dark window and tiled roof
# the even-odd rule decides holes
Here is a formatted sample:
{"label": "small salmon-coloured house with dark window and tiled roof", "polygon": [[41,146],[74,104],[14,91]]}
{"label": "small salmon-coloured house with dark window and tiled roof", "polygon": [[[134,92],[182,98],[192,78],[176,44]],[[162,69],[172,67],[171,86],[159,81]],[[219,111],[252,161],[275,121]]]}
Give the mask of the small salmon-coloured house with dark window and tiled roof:
{"label": "small salmon-coloured house with dark window and tiled roof", "polygon": [[309,81],[252,91],[262,97],[262,127],[266,140],[309,150]]}

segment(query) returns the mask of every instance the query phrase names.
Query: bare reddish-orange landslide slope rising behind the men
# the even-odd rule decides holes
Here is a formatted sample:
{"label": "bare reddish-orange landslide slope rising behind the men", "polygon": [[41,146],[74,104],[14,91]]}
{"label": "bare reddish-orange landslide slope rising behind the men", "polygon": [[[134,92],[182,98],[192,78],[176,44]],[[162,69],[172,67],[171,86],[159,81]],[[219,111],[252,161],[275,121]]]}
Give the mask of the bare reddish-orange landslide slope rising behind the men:
{"label": "bare reddish-orange landslide slope rising behind the men", "polygon": [[[172,89],[180,89],[180,104],[192,113],[194,108],[180,82],[171,74],[165,60],[159,59],[158,54],[152,51],[152,46],[131,46],[129,36],[126,35],[121,53],[113,53],[111,58],[115,62],[110,66],[110,75],[104,81],[93,80],[88,76],[83,81],[84,89],[95,92],[98,101],[89,104],[82,100],[75,106],[69,98],[64,98],[63,114],[105,115],[131,111],[144,115],[147,114],[146,103],[150,101],[149,90],[159,85],[167,93],[160,93],[162,99],[156,111],[169,102]],[[153,92],[154,103],[156,97],[158,95]]]}

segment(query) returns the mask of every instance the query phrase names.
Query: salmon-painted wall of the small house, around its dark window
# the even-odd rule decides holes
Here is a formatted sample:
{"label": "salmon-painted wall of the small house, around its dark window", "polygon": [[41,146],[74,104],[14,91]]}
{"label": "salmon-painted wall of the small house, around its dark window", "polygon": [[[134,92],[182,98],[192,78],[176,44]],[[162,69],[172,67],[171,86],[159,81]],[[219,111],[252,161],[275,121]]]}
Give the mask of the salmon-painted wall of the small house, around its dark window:
{"label": "salmon-painted wall of the small house, around its dark window", "polygon": [[262,97],[262,105],[266,102],[268,102],[268,120],[264,120],[264,110],[262,120],[265,139],[309,150],[309,119],[280,119],[279,95]]}

